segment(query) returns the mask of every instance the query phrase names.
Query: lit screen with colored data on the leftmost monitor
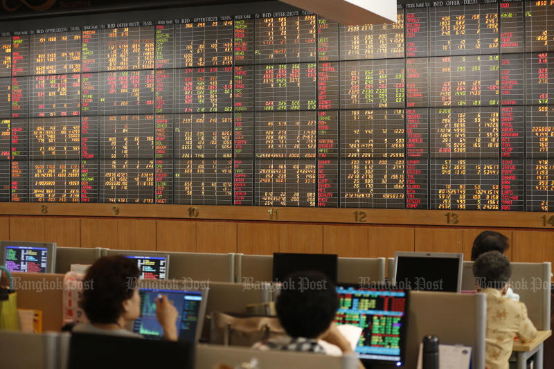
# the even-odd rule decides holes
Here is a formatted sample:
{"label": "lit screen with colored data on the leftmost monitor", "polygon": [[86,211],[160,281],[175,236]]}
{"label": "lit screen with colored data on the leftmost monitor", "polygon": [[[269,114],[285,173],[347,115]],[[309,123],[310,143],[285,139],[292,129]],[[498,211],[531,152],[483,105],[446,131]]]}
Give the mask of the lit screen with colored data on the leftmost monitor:
{"label": "lit screen with colored data on the leftmost monitor", "polygon": [[4,265],[9,271],[46,273],[48,249],[46,247],[6,246]]}

